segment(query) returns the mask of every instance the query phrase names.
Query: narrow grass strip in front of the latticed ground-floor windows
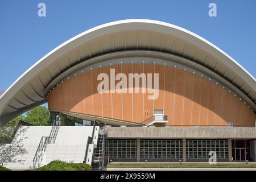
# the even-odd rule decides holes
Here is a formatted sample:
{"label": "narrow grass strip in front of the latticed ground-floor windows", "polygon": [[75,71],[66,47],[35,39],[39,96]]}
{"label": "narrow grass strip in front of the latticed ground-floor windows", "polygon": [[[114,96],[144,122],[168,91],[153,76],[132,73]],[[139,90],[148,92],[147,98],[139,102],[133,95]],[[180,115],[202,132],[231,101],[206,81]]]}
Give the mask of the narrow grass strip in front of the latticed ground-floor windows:
{"label": "narrow grass strip in front of the latticed ground-floor windows", "polygon": [[167,163],[112,163],[107,168],[256,168],[256,164],[213,164],[208,163],[184,163],[184,164],[167,164]]}

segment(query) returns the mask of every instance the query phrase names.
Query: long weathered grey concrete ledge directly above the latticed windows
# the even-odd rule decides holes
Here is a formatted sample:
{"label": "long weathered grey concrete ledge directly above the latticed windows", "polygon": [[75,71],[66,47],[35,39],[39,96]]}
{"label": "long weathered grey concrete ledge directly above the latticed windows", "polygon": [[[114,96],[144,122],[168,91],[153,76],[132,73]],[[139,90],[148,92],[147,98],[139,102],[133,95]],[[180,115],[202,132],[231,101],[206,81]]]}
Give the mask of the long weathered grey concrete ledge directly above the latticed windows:
{"label": "long weathered grey concrete ledge directly above the latticed windows", "polygon": [[108,138],[256,138],[256,127],[107,127]]}

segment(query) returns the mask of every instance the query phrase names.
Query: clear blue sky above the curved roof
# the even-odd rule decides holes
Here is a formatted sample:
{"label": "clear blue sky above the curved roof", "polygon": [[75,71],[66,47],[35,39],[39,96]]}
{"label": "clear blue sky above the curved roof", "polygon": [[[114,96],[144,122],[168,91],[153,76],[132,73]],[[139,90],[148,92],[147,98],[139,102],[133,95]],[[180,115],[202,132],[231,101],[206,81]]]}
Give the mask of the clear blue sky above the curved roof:
{"label": "clear blue sky above the curved roof", "polygon": [[[38,16],[38,3],[47,16]],[[217,17],[208,16],[210,2]],[[102,23],[142,18],[195,32],[256,76],[256,1],[0,1],[0,90],[69,38]]]}

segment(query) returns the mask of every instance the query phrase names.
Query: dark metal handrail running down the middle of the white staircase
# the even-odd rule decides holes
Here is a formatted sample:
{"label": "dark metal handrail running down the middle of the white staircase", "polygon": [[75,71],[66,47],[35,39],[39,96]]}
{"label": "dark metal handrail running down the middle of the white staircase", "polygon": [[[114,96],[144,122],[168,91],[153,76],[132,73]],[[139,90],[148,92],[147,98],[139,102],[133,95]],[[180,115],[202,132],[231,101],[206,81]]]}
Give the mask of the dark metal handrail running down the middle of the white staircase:
{"label": "dark metal handrail running down the middle of the white staircase", "polygon": [[33,168],[36,167],[36,164],[38,164],[38,167],[40,167],[40,163],[43,160],[44,152],[46,151],[46,147],[48,144],[55,143],[57,132],[59,131],[59,125],[53,125],[51,132],[49,134],[49,137],[42,137],[38,148],[36,150],[34,159],[33,159]]}

